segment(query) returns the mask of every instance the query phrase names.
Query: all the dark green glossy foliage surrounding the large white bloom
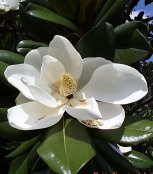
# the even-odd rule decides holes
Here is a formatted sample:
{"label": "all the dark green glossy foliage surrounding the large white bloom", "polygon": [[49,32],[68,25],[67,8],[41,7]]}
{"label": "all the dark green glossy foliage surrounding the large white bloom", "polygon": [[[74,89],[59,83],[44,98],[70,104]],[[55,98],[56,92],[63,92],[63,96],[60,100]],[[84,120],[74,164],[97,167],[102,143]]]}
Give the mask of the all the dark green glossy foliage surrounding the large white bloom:
{"label": "all the dark green glossy foliage surrounding the large white bloom", "polygon": [[[152,2],[145,0],[146,5]],[[148,23],[152,18],[144,20],[139,14],[137,20],[130,19],[137,3],[26,0],[20,3],[18,11],[1,14],[0,163],[6,166],[6,172],[132,174],[153,166],[153,65],[145,62],[153,54],[153,27]],[[150,92],[140,102],[125,106],[127,114],[121,128],[91,130],[67,114],[55,126],[39,131],[24,132],[8,125],[7,109],[15,105],[18,91],[6,82],[4,70],[10,64],[22,63],[31,49],[48,45],[56,34],[66,36],[82,57],[105,57],[134,66],[145,75]],[[114,148],[108,143],[115,144]],[[131,145],[133,151],[123,156],[117,152],[116,144]],[[142,150],[144,146],[147,153]]]}

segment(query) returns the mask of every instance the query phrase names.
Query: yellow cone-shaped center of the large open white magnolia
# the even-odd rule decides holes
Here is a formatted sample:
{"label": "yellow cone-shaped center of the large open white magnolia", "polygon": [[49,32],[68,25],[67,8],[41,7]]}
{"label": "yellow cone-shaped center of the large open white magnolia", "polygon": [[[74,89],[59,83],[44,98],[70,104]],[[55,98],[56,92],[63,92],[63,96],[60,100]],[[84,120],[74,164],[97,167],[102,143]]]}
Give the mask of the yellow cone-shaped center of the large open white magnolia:
{"label": "yellow cone-shaped center of the large open white magnolia", "polygon": [[77,91],[77,81],[67,72],[61,74],[59,92],[61,95],[72,98]]}

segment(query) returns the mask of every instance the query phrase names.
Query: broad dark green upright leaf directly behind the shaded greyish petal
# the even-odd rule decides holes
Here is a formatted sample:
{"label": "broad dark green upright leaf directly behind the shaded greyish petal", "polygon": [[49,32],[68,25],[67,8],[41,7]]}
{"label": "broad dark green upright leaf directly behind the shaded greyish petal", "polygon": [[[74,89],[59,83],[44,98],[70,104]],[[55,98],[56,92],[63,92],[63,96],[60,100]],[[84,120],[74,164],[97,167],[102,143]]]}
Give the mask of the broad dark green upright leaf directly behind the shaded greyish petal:
{"label": "broad dark green upright leaf directly behind the shaded greyish petal", "polygon": [[114,58],[114,31],[112,25],[103,23],[85,34],[76,45],[77,51],[85,57]]}

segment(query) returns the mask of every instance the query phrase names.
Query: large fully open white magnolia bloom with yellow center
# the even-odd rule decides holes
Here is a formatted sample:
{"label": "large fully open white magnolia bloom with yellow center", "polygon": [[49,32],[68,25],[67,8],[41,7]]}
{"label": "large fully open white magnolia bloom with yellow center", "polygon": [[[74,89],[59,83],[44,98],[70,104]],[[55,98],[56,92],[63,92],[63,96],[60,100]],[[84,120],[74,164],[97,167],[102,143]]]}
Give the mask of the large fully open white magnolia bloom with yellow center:
{"label": "large fully open white magnolia bloom with yellow center", "polygon": [[121,104],[147,93],[137,70],[101,57],[82,59],[58,35],[49,47],[30,51],[23,64],[8,66],[4,74],[20,91],[18,105],[8,109],[8,121],[22,130],[50,127],[65,111],[88,127],[118,128],[125,117]]}

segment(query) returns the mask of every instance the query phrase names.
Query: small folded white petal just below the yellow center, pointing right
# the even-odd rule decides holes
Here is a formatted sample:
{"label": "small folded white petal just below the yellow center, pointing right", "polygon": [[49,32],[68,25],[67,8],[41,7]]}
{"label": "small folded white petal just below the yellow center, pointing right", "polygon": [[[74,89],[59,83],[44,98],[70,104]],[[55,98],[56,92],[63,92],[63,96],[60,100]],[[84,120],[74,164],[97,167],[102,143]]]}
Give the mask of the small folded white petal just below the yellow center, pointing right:
{"label": "small folded white petal just below the yellow center, pointing right", "polygon": [[80,102],[78,106],[71,107],[65,105],[64,108],[69,115],[78,120],[101,118],[97,102],[93,98]]}

